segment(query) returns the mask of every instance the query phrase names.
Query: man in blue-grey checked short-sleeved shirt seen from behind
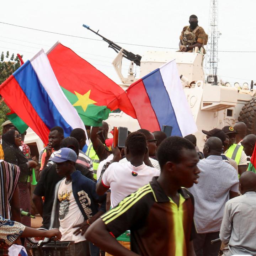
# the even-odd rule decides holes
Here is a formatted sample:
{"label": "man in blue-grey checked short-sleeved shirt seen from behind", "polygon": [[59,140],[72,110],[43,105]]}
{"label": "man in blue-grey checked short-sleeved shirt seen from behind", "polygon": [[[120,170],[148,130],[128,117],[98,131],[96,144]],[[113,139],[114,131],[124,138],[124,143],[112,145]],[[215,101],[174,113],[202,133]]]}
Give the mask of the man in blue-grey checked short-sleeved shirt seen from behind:
{"label": "man in blue-grey checked short-sleeved shirt seen from behind", "polygon": [[188,190],[194,196],[194,221],[197,235],[193,240],[197,256],[218,256],[220,242],[211,245],[210,240],[219,238],[225,203],[238,196],[238,174],[234,167],[221,157],[222,141],[210,137],[203,148],[206,157],[198,162],[200,180]]}

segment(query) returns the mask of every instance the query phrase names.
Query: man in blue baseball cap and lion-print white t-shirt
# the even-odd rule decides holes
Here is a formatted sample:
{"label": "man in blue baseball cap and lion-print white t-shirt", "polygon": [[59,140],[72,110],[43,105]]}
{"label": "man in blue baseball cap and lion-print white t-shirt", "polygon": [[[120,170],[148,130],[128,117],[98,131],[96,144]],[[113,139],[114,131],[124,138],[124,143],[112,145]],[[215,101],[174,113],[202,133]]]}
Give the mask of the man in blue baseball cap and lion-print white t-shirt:
{"label": "man in blue baseball cap and lion-print white t-shirt", "polygon": [[[51,159],[56,163],[58,175],[64,178],[55,187],[50,228],[59,228],[62,241],[75,241],[76,256],[99,255],[100,249],[89,244],[84,233],[106,212],[106,195],[96,194],[96,183],[76,170],[76,160],[75,151],[69,148],[56,151]],[[98,203],[101,203],[100,209]]]}

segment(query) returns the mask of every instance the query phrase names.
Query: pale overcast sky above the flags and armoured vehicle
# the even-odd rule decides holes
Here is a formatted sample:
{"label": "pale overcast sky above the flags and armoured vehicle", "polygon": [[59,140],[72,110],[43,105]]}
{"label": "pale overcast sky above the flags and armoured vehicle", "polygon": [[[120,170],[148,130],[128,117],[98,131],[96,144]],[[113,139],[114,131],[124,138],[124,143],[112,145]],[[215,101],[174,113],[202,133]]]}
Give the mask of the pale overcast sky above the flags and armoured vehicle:
{"label": "pale overcast sky above the flags and armoured vehicle", "polygon": [[[120,46],[143,55],[148,50],[168,50],[142,47],[140,44],[156,47],[178,48],[180,32],[191,14],[198,16],[199,26],[208,31],[209,0],[14,0],[1,1],[0,21],[14,25],[36,28],[51,32],[100,39],[82,27],[90,25],[100,30],[103,36]],[[219,52],[218,75],[233,84],[256,81],[256,1],[219,1],[219,51],[254,51],[252,53]],[[0,23],[0,51],[23,54],[23,60],[30,59],[39,49],[48,50],[56,41],[73,49],[97,69],[120,83],[111,63],[116,57],[107,43],[89,39],[62,36],[53,33],[29,30]],[[171,51],[172,49],[170,49]],[[124,61],[126,75],[129,62]],[[139,72],[139,68],[137,69]]]}

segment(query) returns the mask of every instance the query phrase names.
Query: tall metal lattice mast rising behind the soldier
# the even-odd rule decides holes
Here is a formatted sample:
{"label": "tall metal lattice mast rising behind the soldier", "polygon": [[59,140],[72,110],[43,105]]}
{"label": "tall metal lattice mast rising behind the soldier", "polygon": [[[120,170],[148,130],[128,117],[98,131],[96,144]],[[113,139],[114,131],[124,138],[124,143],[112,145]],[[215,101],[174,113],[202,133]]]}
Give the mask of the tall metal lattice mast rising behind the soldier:
{"label": "tall metal lattice mast rising behind the soldier", "polygon": [[208,43],[206,47],[206,75],[215,75],[218,72],[218,0],[210,0]]}

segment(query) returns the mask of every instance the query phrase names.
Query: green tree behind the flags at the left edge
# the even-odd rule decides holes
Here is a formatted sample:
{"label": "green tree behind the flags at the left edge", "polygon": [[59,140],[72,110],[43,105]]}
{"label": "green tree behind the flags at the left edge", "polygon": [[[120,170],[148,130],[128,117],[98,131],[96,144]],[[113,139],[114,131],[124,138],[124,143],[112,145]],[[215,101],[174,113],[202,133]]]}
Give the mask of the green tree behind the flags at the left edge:
{"label": "green tree behind the flags at the left edge", "polygon": [[[14,54],[12,54],[11,57],[10,58],[9,57],[10,57],[9,51],[6,52],[6,55],[4,55],[4,52],[1,53],[0,84],[2,84],[2,82],[4,82],[7,78],[9,78],[9,76],[20,67],[20,60],[17,56],[16,58],[14,58]],[[7,120],[6,114],[8,112],[10,112],[9,107],[7,107],[5,102],[2,101],[0,105],[0,124],[2,124]]]}

